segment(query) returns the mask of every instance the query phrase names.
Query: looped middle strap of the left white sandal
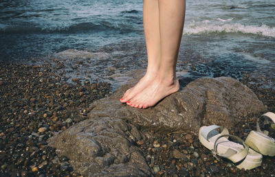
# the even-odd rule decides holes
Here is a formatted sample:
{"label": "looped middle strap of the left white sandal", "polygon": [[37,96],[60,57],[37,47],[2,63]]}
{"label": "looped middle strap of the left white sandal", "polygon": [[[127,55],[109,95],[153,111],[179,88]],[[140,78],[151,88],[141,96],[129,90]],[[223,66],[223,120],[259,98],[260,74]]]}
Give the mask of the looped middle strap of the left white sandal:
{"label": "looped middle strap of the left white sandal", "polygon": [[[218,139],[220,139],[222,137],[232,137],[232,138],[240,141],[241,143],[243,143],[243,147],[244,147],[243,150],[241,150],[241,152],[238,152],[236,154],[231,155],[232,154],[232,153],[230,153],[231,149],[229,148],[224,154],[219,154],[217,152],[217,147],[219,145],[219,144],[217,144],[217,141],[218,141]],[[248,148],[249,148],[248,145],[246,145],[245,142],[242,139],[240,139],[239,137],[236,137],[236,136],[234,136],[232,134],[223,134],[223,135],[219,136],[216,139],[216,141],[214,142],[214,150],[213,151],[214,151],[214,156],[215,156],[215,154],[217,154],[219,156],[228,158],[233,163],[237,163],[237,162],[243,160],[243,158],[245,158],[245,156],[248,155]]]}

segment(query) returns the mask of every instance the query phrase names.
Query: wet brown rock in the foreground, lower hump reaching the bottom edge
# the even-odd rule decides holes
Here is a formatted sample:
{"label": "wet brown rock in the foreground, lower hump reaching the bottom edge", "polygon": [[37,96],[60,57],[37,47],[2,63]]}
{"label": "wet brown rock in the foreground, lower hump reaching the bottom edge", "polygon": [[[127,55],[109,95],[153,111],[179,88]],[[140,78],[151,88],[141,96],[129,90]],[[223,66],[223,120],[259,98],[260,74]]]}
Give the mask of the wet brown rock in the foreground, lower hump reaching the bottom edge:
{"label": "wet brown rock in the foreground, lower hump reaching the bottom edge", "polygon": [[88,119],[48,140],[58,156],[67,156],[74,170],[84,176],[151,176],[135,126],[110,117]]}

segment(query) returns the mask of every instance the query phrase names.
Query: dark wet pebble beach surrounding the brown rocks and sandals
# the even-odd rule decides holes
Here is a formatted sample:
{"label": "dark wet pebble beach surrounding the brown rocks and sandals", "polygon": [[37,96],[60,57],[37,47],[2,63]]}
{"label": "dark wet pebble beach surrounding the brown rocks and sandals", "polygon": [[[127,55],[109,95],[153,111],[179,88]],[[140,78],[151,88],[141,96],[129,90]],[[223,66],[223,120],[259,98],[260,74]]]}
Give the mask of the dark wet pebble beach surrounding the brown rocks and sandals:
{"label": "dark wet pebble beach surrounding the brown rocks and sandals", "polygon": [[[89,104],[111,94],[106,82],[72,78],[64,82],[64,72],[57,72],[60,62],[47,64],[1,63],[0,176],[80,176],[69,158],[57,156],[47,145],[56,132],[87,119]],[[249,74],[241,82],[249,86],[267,106],[275,111],[275,92],[251,84]],[[71,119],[70,117],[73,117]],[[259,117],[260,115],[258,115]],[[242,117],[234,128],[242,139],[256,128],[257,117]],[[151,130],[142,130],[143,132]],[[237,169],[230,161],[215,159],[199,143],[197,132],[153,133],[151,141],[137,141],[155,176],[274,176],[274,157],[264,156],[263,164],[252,170]],[[275,132],[271,133],[274,136]]]}

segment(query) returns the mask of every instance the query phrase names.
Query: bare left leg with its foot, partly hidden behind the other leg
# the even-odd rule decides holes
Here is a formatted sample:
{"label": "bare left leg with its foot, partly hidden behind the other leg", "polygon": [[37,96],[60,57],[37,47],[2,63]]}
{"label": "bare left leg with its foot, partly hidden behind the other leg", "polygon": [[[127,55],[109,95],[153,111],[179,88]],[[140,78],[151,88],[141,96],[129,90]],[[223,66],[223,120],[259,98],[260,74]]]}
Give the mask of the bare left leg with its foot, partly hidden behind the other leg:
{"label": "bare left leg with its foot, partly hidden behind the other leg", "polygon": [[159,73],[160,64],[160,34],[159,34],[159,5],[157,0],[144,1],[143,23],[148,56],[147,71],[144,77],[124,93],[120,102],[125,103],[142,92]]}

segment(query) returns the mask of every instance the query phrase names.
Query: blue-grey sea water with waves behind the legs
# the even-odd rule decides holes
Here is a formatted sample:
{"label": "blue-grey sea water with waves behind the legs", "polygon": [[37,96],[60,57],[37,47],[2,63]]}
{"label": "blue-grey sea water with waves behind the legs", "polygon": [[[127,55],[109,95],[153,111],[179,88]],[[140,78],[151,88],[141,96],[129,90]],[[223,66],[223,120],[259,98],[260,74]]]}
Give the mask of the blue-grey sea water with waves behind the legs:
{"label": "blue-grey sea water with waves behind the legs", "polygon": [[[131,60],[135,47],[145,46],[142,5],[140,0],[2,0],[0,60],[30,60],[67,49],[98,51],[107,46],[116,47],[113,54]],[[192,63],[192,75],[240,78],[250,72],[274,81],[274,11],[274,0],[186,1],[179,62]],[[135,45],[120,52],[118,46],[127,43]],[[135,62],[144,60],[146,56]]]}

